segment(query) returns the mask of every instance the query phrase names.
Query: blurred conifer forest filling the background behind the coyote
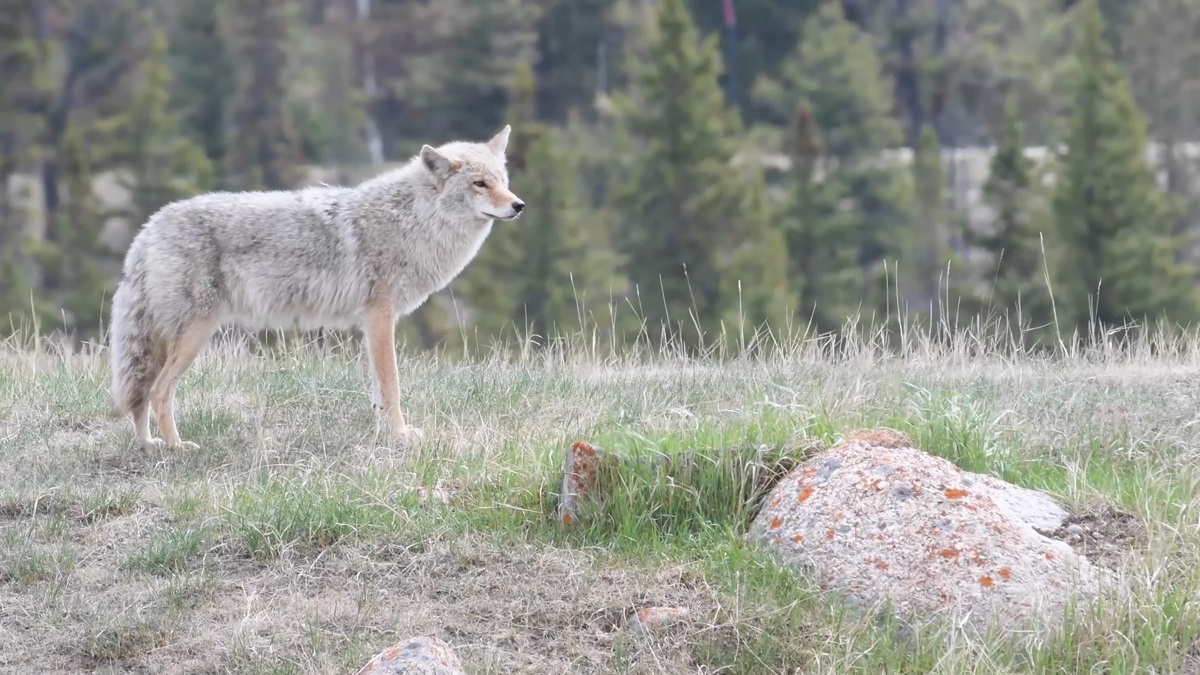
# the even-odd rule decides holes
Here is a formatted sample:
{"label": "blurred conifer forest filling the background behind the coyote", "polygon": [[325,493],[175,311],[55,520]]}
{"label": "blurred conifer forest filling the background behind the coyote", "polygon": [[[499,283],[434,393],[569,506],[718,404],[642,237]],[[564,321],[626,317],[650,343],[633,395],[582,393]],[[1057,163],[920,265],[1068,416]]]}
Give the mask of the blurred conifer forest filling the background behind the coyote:
{"label": "blurred conifer forest filling the background behind the coyote", "polygon": [[130,240],[512,125],[410,350],[1200,321],[1200,0],[0,0],[0,333]]}

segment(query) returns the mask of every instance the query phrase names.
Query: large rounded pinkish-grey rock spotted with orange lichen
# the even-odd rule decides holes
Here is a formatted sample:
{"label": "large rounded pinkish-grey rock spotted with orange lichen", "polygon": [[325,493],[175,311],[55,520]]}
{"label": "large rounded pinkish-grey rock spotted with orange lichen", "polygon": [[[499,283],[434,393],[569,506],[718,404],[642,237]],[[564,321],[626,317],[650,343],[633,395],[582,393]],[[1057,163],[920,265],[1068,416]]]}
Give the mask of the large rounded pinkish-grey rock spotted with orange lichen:
{"label": "large rounded pinkish-grey rock spotted with orange lichen", "polygon": [[1052,626],[1073,599],[1097,590],[1087,560],[1037,531],[1066,518],[1042,492],[875,430],[792,470],[746,538],[856,603],[889,601],[905,619],[1020,629],[1031,620]]}

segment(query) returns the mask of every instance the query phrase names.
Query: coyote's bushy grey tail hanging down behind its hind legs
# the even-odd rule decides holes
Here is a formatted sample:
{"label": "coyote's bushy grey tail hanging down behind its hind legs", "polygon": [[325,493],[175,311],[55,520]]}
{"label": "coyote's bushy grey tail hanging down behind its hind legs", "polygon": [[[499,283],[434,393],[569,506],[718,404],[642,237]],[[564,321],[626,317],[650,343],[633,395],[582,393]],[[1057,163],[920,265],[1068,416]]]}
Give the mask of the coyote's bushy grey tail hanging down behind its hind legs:
{"label": "coyote's bushy grey tail hanging down behind its hind legs", "polygon": [[144,251],[137,244],[131,247],[124,277],[113,294],[113,319],[109,324],[112,394],[121,414],[145,405],[150,387],[163,365],[145,294]]}

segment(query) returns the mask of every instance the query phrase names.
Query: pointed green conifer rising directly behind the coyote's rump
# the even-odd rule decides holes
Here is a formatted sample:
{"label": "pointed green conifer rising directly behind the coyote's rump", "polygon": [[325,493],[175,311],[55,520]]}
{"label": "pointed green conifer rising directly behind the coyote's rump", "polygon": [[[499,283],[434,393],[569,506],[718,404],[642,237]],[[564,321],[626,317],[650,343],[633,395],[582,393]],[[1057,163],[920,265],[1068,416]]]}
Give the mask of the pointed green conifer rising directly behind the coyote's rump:
{"label": "pointed green conifer rising directly behind the coyote's rump", "polygon": [[167,40],[156,32],[130,107],[113,123],[114,160],[128,171],[131,220],[144,222],[169,202],[211,186],[212,165],[204,149],[184,136],[170,109]]}

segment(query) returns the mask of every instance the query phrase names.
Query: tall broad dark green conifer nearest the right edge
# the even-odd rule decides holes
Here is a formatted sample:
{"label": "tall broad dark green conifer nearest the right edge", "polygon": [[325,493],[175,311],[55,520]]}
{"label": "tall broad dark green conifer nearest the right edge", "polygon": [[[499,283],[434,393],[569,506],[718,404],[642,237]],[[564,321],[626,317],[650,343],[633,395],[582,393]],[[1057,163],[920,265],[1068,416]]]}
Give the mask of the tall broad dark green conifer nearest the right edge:
{"label": "tall broad dark green conifer nearest the right edge", "polygon": [[1067,257],[1055,292],[1060,319],[1080,333],[1162,315],[1198,315],[1193,271],[1176,262],[1178,205],[1146,163],[1145,121],[1104,38],[1096,0],[1078,7],[1081,35],[1054,211]]}

